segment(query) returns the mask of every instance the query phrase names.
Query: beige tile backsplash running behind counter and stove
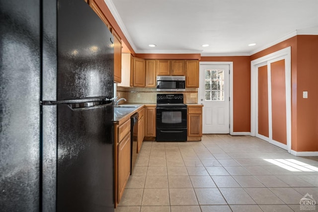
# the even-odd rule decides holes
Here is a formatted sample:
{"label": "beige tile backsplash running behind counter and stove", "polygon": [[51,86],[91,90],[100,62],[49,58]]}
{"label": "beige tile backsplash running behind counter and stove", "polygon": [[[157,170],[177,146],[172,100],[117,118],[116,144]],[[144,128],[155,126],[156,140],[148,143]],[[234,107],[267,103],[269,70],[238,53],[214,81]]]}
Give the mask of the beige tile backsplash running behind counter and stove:
{"label": "beige tile backsplash running behind counter and stove", "polygon": [[157,93],[183,93],[184,103],[198,103],[198,88],[186,88],[184,92],[159,92],[155,87],[117,87],[117,96],[127,99],[126,103],[156,104]]}

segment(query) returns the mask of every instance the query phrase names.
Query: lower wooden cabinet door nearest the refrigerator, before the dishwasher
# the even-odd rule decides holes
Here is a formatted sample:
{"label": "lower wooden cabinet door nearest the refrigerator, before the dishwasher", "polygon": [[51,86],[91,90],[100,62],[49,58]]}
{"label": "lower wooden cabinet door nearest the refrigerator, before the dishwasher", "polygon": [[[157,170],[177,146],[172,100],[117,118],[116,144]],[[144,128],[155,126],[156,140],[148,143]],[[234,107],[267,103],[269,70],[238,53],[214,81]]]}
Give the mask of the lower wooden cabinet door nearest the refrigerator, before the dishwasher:
{"label": "lower wooden cabinet door nearest the refrigerator, before the dishwasher", "polygon": [[117,202],[122,197],[130,176],[130,133],[118,144],[118,190]]}

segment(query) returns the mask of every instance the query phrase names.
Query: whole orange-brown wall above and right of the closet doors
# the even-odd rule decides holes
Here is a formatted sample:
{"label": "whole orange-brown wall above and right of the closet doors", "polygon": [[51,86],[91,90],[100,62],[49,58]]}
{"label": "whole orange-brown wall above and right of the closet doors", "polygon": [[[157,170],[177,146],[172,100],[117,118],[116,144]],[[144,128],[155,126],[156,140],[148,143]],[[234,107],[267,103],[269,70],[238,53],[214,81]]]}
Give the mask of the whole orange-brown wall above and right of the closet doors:
{"label": "whole orange-brown wall above and right of the closet doors", "polygon": [[[298,35],[250,56],[250,60],[291,47],[292,150],[318,151],[318,36]],[[308,91],[308,99],[303,99]]]}

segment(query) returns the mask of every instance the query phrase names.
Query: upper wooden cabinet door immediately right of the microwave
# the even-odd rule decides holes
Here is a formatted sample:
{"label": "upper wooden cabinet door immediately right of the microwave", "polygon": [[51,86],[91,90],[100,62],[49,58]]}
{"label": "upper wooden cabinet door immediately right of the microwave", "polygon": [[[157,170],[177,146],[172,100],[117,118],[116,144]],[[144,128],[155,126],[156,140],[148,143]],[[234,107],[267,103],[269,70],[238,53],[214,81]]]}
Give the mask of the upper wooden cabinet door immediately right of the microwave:
{"label": "upper wooden cabinet door immediately right of the microwave", "polygon": [[186,87],[199,87],[199,61],[185,61],[185,85]]}

